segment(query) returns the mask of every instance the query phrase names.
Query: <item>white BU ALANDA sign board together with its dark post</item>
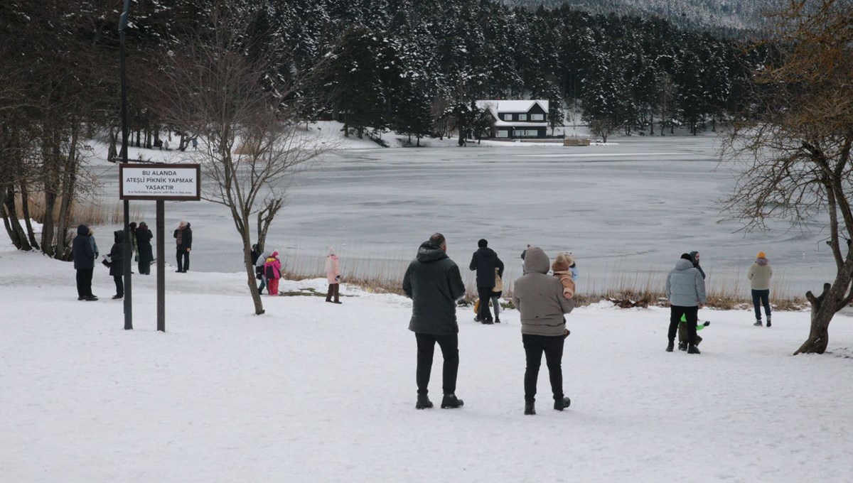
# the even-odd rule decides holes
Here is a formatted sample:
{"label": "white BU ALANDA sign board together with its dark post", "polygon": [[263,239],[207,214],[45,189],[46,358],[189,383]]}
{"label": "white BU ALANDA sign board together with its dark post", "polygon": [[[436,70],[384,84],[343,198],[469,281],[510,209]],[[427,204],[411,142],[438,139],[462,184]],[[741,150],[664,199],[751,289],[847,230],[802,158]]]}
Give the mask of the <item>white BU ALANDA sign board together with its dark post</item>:
{"label": "white BU ALANDA sign board together with its dark post", "polygon": [[[201,199],[200,164],[119,164],[119,198],[157,202],[157,330],[165,332],[163,202]],[[126,327],[126,325],[125,325]]]}

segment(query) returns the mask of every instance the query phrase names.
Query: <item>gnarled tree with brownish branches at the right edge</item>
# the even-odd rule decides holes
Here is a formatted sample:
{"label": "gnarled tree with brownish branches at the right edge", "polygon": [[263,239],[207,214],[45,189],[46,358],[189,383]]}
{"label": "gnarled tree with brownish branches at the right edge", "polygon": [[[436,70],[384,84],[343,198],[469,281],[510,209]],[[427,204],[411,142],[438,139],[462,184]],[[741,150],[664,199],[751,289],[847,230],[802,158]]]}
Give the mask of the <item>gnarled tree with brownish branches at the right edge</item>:
{"label": "gnarled tree with brownish branches at the right edge", "polygon": [[829,219],[835,279],[811,291],[811,328],[794,354],[823,354],[833,315],[853,302],[853,10],[792,0],[777,20],[777,62],[755,72],[760,112],[734,127],[723,153],[744,163],[730,210],[746,227],[771,218]]}

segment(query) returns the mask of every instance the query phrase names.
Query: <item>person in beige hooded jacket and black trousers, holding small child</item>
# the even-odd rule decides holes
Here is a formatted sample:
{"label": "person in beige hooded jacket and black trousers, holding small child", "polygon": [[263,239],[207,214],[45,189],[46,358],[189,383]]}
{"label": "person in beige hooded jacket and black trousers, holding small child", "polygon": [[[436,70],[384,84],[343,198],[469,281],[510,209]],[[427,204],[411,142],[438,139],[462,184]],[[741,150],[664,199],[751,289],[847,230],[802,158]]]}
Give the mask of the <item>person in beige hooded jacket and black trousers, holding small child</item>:
{"label": "person in beige hooded jacket and black trousers, holding small child", "polygon": [[563,411],[572,400],[563,394],[563,343],[566,342],[564,313],[572,312],[574,301],[563,295],[560,279],[548,275],[550,260],[531,246],[525,254],[525,274],[515,280],[513,303],[521,314],[521,341],[525,346],[525,414],[536,414],[536,386],[542,354],[548,365],[554,409]]}

